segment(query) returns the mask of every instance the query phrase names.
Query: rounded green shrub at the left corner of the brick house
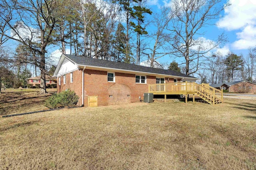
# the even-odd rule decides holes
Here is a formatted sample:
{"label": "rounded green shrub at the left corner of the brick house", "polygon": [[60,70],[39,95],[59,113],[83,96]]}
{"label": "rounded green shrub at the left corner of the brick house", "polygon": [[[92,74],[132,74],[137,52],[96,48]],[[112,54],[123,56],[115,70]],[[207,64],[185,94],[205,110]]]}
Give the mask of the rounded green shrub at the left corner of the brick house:
{"label": "rounded green shrub at the left corner of the brick house", "polygon": [[76,106],[79,97],[69,89],[58,94],[53,94],[45,101],[44,106],[49,108],[73,107]]}

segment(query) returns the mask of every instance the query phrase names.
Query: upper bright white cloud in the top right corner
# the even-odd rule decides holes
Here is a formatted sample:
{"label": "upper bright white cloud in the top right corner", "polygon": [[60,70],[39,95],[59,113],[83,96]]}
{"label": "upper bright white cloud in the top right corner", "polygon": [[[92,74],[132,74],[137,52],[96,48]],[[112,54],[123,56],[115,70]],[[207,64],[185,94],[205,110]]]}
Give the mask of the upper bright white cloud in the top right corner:
{"label": "upper bright white cloud in the top right corner", "polygon": [[231,6],[225,9],[224,18],[218,22],[219,28],[229,31],[256,23],[256,0],[229,0]]}

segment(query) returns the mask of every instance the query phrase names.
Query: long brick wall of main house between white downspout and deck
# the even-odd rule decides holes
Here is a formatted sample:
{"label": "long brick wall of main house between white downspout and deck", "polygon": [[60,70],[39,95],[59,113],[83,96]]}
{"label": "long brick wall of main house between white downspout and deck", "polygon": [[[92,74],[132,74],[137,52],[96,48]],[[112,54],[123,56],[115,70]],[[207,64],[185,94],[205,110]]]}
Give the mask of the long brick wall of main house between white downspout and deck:
{"label": "long brick wall of main house between white downspout and deck", "polygon": [[88,96],[98,96],[98,106],[140,102],[139,96],[144,98],[148,84],[156,83],[155,76],[146,76],[146,84],[137,84],[135,74],[119,72],[115,72],[115,82],[108,82],[106,71],[87,69],[84,70],[84,80],[85,106],[88,106]]}

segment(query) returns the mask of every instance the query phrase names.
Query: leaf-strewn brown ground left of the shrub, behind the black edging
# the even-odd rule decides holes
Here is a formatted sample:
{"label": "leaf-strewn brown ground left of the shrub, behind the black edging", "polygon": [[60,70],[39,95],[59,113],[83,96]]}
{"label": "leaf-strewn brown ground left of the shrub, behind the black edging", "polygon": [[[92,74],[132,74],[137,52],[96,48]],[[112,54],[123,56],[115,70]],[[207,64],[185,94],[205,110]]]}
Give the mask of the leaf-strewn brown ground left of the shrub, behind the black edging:
{"label": "leaf-strewn brown ground left of the shrub, behind the black edging", "polygon": [[26,113],[48,109],[44,106],[46,100],[56,88],[48,88],[46,95],[38,94],[39,89],[6,89],[0,94],[0,115]]}

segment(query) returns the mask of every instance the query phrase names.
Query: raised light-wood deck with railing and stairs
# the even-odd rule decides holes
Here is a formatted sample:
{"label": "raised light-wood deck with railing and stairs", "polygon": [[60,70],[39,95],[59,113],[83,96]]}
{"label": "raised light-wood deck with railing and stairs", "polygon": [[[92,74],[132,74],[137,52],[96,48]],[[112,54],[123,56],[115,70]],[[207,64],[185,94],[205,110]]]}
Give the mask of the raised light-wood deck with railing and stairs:
{"label": "raised light-wood deck with railing and stairs", "polygon": [[197,84],[195,82],[149,84],[148,92],[164,94],[165,101],[168,94],[182,94],[186,95],[185,102],[187,102],[187,96],[191,94],[193,95],[193,102],[195,101],[195,95],[212,105],[223,102],[223,90],[218,90],[208,84]]}

